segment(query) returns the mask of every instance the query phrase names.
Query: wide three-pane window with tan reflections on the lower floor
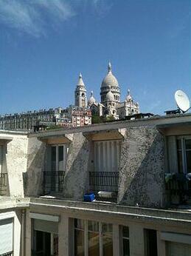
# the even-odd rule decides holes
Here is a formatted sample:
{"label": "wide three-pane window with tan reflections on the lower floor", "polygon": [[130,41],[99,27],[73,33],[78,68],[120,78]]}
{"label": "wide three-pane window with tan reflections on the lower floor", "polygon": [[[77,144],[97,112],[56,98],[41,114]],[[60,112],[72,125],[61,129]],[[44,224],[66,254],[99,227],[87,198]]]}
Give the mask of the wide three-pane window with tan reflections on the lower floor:
{"label": "wide three-pane window with tan reflections on the lower floor", "polygon": [[110,223],[74,219],[74,255],[99,256],[101,252],[104,256],[112,256],[112,229]]}

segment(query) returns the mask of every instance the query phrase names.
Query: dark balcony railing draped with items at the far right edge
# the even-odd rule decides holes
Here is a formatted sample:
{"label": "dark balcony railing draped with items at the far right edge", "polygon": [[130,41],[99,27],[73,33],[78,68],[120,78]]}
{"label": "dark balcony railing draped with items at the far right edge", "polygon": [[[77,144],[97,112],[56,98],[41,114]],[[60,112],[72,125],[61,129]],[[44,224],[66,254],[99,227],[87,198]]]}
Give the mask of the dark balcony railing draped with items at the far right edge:
{"label": "dark balcony railing draped with items at the far right edge", "polygon": [[170,196],[170,203],[190,204],[191,181],[185,173],[166,174],[166,191]]}

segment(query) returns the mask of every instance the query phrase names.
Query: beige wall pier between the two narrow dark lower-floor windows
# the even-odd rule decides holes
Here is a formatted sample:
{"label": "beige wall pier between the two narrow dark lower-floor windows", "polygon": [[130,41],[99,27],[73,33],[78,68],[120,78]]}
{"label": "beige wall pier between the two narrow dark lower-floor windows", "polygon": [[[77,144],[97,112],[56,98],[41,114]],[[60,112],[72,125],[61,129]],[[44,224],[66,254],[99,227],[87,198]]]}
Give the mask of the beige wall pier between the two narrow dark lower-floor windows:
{"label": "beige wall pier between the two narrow dark lower-floor windows", "polygon": [[144,229],[142,226],[129,225],[130,254],[144,256]]}

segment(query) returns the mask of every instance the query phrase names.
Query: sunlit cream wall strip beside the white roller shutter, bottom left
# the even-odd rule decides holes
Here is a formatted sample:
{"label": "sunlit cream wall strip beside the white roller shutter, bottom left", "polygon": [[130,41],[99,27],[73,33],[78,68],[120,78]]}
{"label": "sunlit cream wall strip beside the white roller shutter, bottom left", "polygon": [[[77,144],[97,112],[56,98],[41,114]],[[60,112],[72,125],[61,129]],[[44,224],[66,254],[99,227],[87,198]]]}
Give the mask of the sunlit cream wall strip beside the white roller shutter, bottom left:
{"label": "sunlit cream wall strip beside the white roller shutter, bottom left", "polygon": [[20,256],[21,253],[21,212],[15,212],[14,230],[13,230],[13,248],[14,256]]}

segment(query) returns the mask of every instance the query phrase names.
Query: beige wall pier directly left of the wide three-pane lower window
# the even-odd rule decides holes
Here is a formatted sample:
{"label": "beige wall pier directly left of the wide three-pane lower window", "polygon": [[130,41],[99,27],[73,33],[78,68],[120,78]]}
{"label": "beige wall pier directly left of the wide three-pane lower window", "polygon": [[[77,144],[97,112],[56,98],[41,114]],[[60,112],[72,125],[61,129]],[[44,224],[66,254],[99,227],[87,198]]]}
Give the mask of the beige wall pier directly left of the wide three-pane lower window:
{"label": "beige wall pier directly left of the wide three-pane lower window", "polygon": [[73,254],[73,220],[66,215],[60,215],[58,223],[58,255],[72,256]]}

